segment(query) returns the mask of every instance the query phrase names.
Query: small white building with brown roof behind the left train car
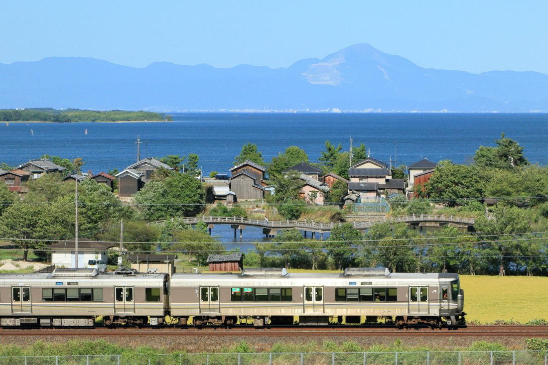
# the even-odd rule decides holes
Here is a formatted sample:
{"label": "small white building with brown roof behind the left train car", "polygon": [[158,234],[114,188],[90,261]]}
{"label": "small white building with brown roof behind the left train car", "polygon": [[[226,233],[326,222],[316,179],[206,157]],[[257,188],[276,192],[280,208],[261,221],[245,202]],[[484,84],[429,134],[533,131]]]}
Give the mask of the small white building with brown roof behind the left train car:
{"label": "small white building with brown roof behind the left train car", "polygon": [[[78,239],[78,267],[88,267],[89,260],[107,261],[107,250],[117,243]],[[76,267],[76,242],[74,239],[59,241],[48,247],[52,252],[52,265]]]}

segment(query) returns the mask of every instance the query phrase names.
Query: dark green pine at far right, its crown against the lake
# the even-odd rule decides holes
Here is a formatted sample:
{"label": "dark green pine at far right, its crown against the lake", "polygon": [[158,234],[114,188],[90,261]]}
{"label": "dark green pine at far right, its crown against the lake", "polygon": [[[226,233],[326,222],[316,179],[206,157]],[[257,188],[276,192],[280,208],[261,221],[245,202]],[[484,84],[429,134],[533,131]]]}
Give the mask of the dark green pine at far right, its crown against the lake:
{"label": "dark green pine at far right, its crown against the lake", "polygon": [[474,161],[480,168],[513,169],[529,164],[523,155],[523,147],[513,139],[506,138],[504,133],[495,139],[496,147],[479,146]]}

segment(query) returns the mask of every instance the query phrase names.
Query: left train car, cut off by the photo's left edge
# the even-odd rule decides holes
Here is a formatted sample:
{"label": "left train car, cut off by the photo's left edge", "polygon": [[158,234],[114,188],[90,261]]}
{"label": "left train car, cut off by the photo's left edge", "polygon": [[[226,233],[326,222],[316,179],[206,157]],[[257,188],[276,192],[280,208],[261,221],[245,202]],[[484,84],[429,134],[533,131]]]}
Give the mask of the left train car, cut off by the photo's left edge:
{"label": "left train car, cut off by the photo's left edge", "polygon": [[96,269],[0,275],[0,326],[107,327],[162,324],[167,275],[100,274]]}

